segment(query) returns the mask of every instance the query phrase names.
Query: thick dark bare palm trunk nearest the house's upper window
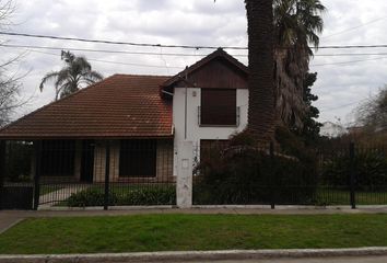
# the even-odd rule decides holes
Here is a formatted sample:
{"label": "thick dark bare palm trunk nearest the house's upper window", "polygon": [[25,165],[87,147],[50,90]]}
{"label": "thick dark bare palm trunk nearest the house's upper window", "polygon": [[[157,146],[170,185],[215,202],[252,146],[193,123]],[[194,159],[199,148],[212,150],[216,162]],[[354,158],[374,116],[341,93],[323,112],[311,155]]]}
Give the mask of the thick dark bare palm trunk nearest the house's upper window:
{"label": "thick dark bare palm trunk nearest the house's upper window", "polygon": [[274,133],[273,2],[245,0],[247,11],[249,107],[248,129],[260,141]]}

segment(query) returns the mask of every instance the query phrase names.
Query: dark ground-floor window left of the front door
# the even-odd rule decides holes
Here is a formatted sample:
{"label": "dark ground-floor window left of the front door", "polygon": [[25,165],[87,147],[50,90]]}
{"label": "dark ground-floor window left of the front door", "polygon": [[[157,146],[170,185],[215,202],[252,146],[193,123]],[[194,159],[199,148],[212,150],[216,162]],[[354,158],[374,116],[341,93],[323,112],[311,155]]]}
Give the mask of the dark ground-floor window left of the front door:
{"label": "dark ground-floor window left of the front door", "polygon": [[75,141],[44,140],[42,144],[42,174],[44,176],[74,175]]}

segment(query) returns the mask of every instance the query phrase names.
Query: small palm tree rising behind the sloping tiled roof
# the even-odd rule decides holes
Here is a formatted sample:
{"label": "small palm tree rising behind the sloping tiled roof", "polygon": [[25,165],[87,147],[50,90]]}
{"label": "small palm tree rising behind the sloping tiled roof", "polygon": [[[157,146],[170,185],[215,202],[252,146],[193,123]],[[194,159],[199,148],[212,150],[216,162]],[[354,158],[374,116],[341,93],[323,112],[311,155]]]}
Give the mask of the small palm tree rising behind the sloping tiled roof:
{"label": "small palm tree rising behind the sloping tiled roof", "polygon": [[84,57],[77,57],[70,52],[62,52],[61,59],[64,61],[64,67],[59,71],[47,73],[40,82],[40,91],[47,81],[54,80],[55,100],[64,98],[81,88],[103,80],[103,76],[92,70],[92,66]]}

